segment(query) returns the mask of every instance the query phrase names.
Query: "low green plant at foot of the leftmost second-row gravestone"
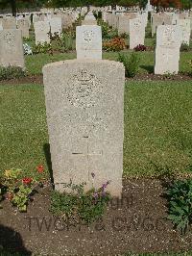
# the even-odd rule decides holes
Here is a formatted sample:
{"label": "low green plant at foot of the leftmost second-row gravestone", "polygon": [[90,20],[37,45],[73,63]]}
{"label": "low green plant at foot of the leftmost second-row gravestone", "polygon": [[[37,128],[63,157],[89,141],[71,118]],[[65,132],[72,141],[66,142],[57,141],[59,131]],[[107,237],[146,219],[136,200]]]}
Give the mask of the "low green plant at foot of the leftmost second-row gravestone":
{"label": "low green plant at foot of the leftmost second-row gravestone", "polygon": [[0,66],[0,81],[21,78],[26,76],[26,71],[20,66]]}

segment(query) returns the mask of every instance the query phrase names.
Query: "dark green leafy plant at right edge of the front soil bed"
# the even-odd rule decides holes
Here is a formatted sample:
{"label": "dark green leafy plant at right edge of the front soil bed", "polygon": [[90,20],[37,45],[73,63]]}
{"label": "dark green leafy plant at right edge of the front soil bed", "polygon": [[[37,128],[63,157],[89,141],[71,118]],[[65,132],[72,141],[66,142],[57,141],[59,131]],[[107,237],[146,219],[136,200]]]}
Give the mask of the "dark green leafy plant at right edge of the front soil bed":
{"label": "dark green leafy plant at right edge of the front soil bed", "polygon": [[166,192],[169,202],[169,219],[185,233],[192,223],[192,180],[178,180]]}

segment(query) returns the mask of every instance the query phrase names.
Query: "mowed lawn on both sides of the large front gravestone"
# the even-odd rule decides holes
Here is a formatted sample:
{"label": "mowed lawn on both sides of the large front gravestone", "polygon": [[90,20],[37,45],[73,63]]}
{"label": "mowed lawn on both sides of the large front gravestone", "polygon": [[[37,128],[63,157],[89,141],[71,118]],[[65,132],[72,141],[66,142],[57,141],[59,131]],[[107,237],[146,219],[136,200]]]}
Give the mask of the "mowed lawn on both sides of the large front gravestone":
{"label": "mowed lawn on both sides of the large front gravestone", "polygon": [[[26,175],[46,168],[43,86],[0,86],[0,170]],[[128,82],[125,86],[124,175],[151,177],[192,168],[192,84]]]}

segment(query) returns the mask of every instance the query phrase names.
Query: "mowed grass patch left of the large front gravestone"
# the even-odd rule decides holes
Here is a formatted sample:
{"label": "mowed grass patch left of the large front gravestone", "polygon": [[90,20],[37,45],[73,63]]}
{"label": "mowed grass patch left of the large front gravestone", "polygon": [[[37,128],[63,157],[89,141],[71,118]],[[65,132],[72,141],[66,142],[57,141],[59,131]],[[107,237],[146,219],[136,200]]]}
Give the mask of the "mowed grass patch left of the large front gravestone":
{"label": "mowed grass patch left of the large front gravestone", "polygon": [[42,86],[0,86],[1,170],[22,168],[28,175],[36,166],[46,166],[45,116]]}

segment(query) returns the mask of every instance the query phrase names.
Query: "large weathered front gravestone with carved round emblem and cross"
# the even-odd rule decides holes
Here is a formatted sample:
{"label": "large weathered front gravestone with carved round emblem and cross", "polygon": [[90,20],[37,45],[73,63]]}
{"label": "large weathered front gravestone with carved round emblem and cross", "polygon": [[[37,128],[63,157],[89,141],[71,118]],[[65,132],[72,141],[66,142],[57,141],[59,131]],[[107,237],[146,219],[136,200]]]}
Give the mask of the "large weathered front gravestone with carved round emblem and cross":
{"label": "large weathered front gravestone with carved round emblem and cross", "polygon": [[[120,196],[123,171],[123,64],[72,60],[43,67],[51,160],[56,189],[62,183],[85,190],[110,181]],[[92,178],[92,174],[95,178]]]}

